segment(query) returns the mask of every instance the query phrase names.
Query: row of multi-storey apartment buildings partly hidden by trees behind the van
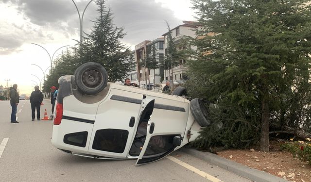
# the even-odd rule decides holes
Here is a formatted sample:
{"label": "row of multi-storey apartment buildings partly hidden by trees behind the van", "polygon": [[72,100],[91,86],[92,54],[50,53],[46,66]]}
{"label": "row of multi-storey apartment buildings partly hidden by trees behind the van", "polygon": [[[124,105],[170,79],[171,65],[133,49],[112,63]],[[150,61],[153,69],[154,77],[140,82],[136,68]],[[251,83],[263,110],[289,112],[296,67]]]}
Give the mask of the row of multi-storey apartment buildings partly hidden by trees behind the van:
{"label": "row of multi-storey apartment buildings partly hidden by trees behind the van", "polygon": [[[184,49],[181,41],[184,36],[195,37],[195,30],[198,27],[199,26],[197,22],[183,21],[182,25],[178,25],[171,30],[177,50]],[[168,34],[169,32],[164,33],[162,35],[163,37],[157,38],[153,41],[144,40],[135,46],[135,50],[132,51],[132,54],[136,62],[136,70],[130,73],[130,79],[132,83],[137,83],[140,87],[143,88],[149,88],[149,84],[152,86],[154,84],[161,83],[161,78],[163,78],[163,80],[177,81],[187,79],[186,72],[188,68],[185,66],[185,60],[180,60],[179,65],[173,67],[173,79],[171,78],[172,75],[170,74],[170,71],[164,70],[163,67],[161,67],[161,63],[165,58],[165,50],[168,48]],[[159,68],[155,70],[149,70],[145,66],[140,66],[140,62],[147,56],[152,56],[153,53],[151,50],[153,45],[155,45],[156,48],[156,59],[159,63]]]}

